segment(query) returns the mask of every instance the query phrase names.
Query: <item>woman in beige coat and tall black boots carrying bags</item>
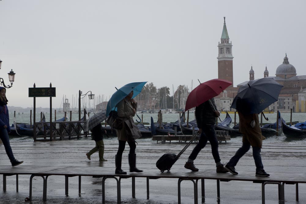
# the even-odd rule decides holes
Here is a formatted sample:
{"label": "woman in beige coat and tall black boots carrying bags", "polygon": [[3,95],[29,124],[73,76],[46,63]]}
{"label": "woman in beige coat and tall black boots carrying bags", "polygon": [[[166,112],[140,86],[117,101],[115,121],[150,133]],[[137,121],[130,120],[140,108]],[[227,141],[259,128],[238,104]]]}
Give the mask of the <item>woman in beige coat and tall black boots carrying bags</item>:
{"label": "woman in beige coat and tall black boots carrying bags", "polygon": [[115,157],[116,174],[126,174],[126,172],[121,169],[122,153],[125,149],[126,142],[128,142],[130,147],[130,172],[142,172],[142,170],[136,168],[135,139],[139,138],[141,136],[141,133],[133,121],[133,116],[135,116],[137,108],[136,101],[132,99],[133,94],[134,92],[132,91],[117,105],[118,117],[121,117],[123,119],[123,125],[121,130],[116,130],[119,141],[119,147],[117,155]]}

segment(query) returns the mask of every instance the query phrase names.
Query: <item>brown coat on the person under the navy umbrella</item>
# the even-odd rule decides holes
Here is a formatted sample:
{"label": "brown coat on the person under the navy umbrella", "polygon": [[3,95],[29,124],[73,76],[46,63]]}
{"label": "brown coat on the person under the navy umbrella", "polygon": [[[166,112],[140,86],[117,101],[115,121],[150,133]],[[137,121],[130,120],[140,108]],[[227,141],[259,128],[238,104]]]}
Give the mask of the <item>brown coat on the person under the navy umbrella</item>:
{"label": "brown coat on the person under the navy umbrella", "polygon": [[[239,132],[243,134],[242,142],[249,142],[252,147],[262,147],[263,140],[266,139],[261,134],[261,129],[259,126],[258,114],[248,114],[244,115],[238,111],[239,115]],[[252,128],[251,122],[255,121],[255,126]]]}

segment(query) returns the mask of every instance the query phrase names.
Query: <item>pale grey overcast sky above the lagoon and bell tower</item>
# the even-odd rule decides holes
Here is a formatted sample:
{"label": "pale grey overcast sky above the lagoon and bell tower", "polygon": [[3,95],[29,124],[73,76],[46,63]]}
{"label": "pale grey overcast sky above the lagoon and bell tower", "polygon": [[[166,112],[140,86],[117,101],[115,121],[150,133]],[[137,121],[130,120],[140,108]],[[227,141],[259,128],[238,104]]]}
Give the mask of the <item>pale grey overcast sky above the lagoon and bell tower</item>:
{"label": "pale grey overcast sky above the lagoon and bell tower", "polygon": [[[0,1],[0,77],[16,73],[9,106],[31,107],[28,87],[56,87],[52,106],[78,91],[109,99],[137,81],[176,90],[218,78],[223,17],[233,44],[234,86],[275,76],[285,53],[305,69],[305,1]],[[174,91],[175,91],[174,90]],[[86,96],[87,97],[87,96]],[[36,98],[49,107],[49,98]]]}

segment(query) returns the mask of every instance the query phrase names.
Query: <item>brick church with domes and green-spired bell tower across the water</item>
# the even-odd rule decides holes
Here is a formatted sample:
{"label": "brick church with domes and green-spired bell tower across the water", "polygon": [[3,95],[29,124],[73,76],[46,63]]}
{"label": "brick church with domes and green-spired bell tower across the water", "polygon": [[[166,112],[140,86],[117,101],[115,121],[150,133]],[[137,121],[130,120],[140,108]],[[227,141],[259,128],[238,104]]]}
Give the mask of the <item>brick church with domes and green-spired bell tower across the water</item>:
{"label": "brick church with domes and green-spired bell tower across the water", "polygon": [[[230,41],[225,17],[223,30],[221,35],[221,43],[218,43],[218,79],[229,80],[233,83],[233,55],[232,42]],[[269,76],[267,66],[263,72],[263,77],[274,78],[278,83],[284,87],[281,90],[278,101],[271,104],[267,109],[276,112],[306,112],[306,75],[297,76],[296,69],[289,64],[287,54],[285,54],[284,61],[276,69],[275,76]],[[255,79],[255,72],[251,66],[249,72],[249,80],[237,85],[237,87],[230,86],[226,88],[223,93],[215,97],[215,102],[218,110],[233,111],[231,103],[237,95],[239,87],[247,84],[250,80]]]}

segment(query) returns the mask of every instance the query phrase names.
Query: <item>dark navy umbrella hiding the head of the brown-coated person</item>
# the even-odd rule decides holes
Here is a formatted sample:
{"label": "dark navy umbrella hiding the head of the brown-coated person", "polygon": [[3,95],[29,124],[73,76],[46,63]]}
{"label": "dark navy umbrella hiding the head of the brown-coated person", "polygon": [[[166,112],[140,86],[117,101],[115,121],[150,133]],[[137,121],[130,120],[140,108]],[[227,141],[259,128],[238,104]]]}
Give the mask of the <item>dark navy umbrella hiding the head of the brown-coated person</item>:
{"label": "dark navy umbrella hiding the head of the brown-coated person", "polygon": [[239,88],[231,108],[244,113],[259,114],[272,103],[278,101],[282,87],[273,78],[251,80]]}

